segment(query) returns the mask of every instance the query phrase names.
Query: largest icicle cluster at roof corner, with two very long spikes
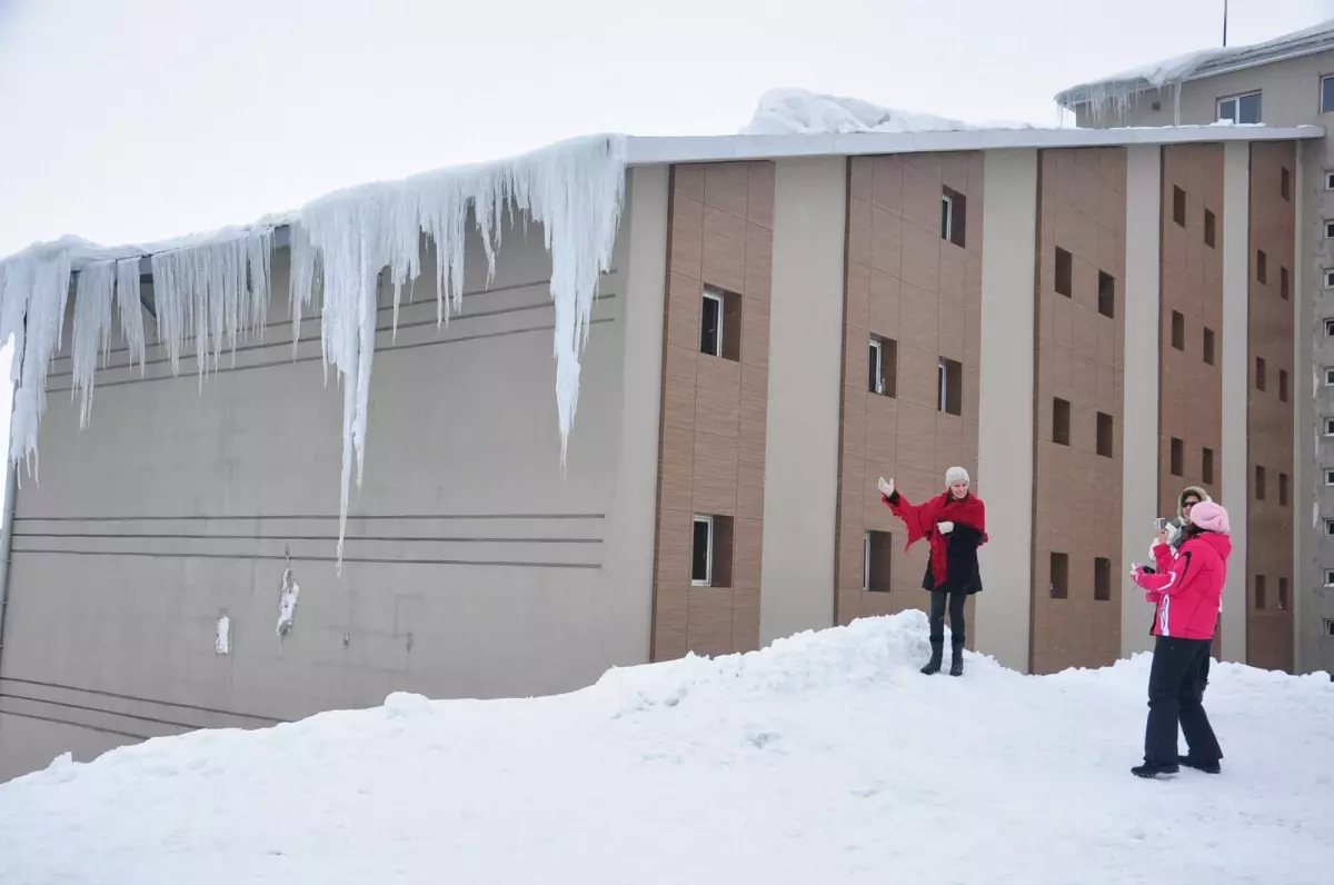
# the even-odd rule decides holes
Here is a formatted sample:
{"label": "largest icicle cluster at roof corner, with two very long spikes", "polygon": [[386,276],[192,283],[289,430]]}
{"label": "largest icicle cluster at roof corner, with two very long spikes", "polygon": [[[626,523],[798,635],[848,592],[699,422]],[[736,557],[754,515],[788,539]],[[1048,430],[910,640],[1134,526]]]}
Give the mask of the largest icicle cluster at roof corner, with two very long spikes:
{"label": "largest icicle cluster at roof corner, with two very long spikes", "polygon": [[[436,318],[463,306],[467,220],[471,211],[495,272],[499,220],[543,224],[555,302],[556,411],[564,463],[579,400],[579,354],[587,340],[598,279],[611,252],[624,195],[623,137],[567,141],[512,160],[430,172],[404,182],[342,191],[301,210],[292,239],[293,322],[323,280],[321,343],[343,384],[343,477],[339,557],[347,527],[354,462],[362,483],[367,400],[375,355],[379,275],[388,270],[396,327],[402,287],[420,274],[420,239],[435,243]],[[295,331],[295,330],[293,330]],[[295,339],[293,339],[295,340]]]}

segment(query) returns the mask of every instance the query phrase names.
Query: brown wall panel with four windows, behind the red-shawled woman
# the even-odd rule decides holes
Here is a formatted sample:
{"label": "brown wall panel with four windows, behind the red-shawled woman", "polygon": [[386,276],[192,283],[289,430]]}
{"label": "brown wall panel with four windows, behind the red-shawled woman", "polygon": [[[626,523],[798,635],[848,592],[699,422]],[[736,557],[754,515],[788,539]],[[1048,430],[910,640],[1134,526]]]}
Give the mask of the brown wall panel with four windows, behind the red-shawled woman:
{"label": "brown wall panel with four windows, behind the red-shawled woman", "polygon": [[[962,463],[976,473],[982,168],[980,154],[854,158],[848,166],[839,623],[928,603],[920,589],[926,546],[903,551],[903,526],[880,502],[876,477],[894,477],[908,498],[922,501],[943,490],[946,467]],[[967,199],[966,247],[940,236],[942,187]],[[870,335],[898,343],[892,398],[867,390]],[[940,356],[963,364],[962,416],[936,410]],[[866,531],[892,535],[888,593],[860,590]]]}

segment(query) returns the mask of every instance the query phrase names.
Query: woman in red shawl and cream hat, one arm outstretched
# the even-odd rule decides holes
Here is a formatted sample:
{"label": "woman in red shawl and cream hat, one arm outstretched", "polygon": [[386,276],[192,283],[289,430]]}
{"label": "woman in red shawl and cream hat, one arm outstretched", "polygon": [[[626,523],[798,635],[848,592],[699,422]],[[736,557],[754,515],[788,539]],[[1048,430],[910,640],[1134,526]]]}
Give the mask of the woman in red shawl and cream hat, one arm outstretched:
{"label": "woman in red shawl and cream hat, one arm outstretched", "polygon": [[922,577],[922,589],[931,591],[931,661],[922,667],[922,673],[931,675],[940,671],[948,603],[950,675],[963,675],[963,603],[982,591],[978,547],[987,542],[987,509],[980,498],[968,494],[968,471],[963,467],[950,467],[944,485],[944,494],[911,505],[894,489],[892,479],[880,477],[878,483],[884,505],[907,526],[907,547],[920,538],[931,545],[926,575]]}

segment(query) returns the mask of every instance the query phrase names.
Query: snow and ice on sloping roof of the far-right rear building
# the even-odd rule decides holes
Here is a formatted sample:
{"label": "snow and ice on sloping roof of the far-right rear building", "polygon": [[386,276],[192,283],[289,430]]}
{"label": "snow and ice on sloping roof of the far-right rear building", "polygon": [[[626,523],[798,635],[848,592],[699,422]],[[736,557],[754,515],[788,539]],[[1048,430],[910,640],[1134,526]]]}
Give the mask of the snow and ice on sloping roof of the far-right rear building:
{"label": "snow and ice on sloping roof of the far-right rear building", "polygon": [[1151,61],[1129,71],[1073,85],[1058,92],[1055,97],[1057,104],[1070,111],[1082,104],[1091,104],[1097,111],[1109,103],[1117,105],[1118,109],[1125,109],[1130,99],[1149,89],[1167,87],[1179,89],[1181,84],[1189,80],[1199,80],[1285,59],[1297,59],[1327,49],[1334,49],[1334,19],[1263,43],[1199,49],[1162,61]]}

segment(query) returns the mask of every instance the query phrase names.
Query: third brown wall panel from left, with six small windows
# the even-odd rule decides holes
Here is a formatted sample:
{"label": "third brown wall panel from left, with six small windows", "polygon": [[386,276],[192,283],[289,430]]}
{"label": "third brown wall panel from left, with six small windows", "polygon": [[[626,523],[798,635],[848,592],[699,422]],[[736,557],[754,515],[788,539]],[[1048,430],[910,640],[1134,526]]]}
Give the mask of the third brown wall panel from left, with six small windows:
{"label": "third brown wall panel from left, with six small windows", "polygon": [[[1123,148],[1039,154],[1035,518],[1031,667],[1102,666],[1121,650],[1122,366],[1126,155]],[[971,211],[971,210],[970,210]],[[1071,295],[1055,291],[1055,250],[1071,255]],[[1098,311],[1098,274],[1117,282]],[[1070,403],[1070,445],[1053,440],[1053,398]],[[1147,404],[1153,407],[1153,404]],[[1097,415],[1113,416],[1113,457]],[[1051,553],[1069,557],[1066,598],[1051,595]],[[1111,598],[1094,599],[1094,561],[1111,561]]]}

